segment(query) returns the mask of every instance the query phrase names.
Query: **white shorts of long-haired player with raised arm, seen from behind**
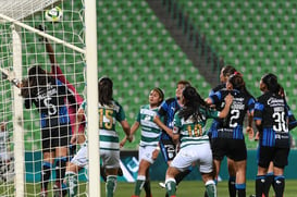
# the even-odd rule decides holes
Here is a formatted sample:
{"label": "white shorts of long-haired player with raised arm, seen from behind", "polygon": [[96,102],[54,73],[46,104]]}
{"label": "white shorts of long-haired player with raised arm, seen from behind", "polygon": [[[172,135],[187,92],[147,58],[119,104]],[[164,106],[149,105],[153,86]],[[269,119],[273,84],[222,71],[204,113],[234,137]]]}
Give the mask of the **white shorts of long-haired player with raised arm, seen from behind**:
{"label": "white shorts of long-haired player with raised arm, seen from behind", "polygon": [[185,171],[193,164],[198,164],[201,173],[212,172],[213,159],[209,143],[182,148],[170,165]]}

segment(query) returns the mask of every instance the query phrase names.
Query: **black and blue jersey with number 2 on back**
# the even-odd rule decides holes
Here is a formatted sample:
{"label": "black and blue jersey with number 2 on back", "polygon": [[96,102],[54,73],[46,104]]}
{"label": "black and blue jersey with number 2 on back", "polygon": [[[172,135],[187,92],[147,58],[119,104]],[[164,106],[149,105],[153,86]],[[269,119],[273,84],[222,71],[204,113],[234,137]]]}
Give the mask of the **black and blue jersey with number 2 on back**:
{"label": "black and blue jersey with number 2 on back", "polygon": [[[234,90],[219,90],[214,95],[210,96],[212,103],[220,106],[224,103],[224,98],[231,94],[233,96],[233,102],[230,108],[228,115],[220,121],[216,125],[216,131],[212,131],[212,138],[233,138],[233,139],[244,139],[243,126],[244,119],[247,111],[252,112],[255,107],[255,99],[244,93]],[[224,104],[223,104],[224,106]]]}

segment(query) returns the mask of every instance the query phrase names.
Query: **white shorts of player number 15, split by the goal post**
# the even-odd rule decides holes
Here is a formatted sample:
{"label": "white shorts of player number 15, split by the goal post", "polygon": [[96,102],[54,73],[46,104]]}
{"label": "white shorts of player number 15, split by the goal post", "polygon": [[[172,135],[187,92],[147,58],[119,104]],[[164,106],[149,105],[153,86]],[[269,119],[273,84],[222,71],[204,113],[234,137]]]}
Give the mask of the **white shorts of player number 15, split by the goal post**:
{"label": "white shorts of player number 15, split by the goal post", "polygon": [[[100,150],[100,159],[102,159],[102,167],[107,169],[120,168],[120,151]],[[72,163],[83,168],[88,164],[88,147],[82,146],[78,152],[71,160]]]}

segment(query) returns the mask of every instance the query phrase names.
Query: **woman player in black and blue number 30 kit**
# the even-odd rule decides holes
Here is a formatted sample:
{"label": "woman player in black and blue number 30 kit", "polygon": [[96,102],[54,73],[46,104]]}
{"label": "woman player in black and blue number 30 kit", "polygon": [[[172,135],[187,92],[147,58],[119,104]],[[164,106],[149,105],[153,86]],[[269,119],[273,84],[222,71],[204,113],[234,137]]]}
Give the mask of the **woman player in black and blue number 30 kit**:
{"label": "woman player in black and blue number 30 kit", "polygon": [[265,175],[272,161],[275,197],[282,197],[285,187],[284,168],[287,165],[290,145],[287,104],[280,95],[280,84],[274,74],[262,76],[260,90],[263,95],[257,99],[253,114],[259,132],[256,196],[261,197],[265,192]]}

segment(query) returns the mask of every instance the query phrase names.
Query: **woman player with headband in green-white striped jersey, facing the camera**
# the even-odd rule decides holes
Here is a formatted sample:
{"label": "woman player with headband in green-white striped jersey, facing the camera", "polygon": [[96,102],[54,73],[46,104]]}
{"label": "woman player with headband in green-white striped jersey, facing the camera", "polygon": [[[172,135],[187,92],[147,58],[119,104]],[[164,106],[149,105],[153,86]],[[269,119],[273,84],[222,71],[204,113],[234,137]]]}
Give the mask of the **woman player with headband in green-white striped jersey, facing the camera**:
{"label": "woman player with headband in green-white striped jersey, facing the camera", "polygon": [[[135,192],[133,197],[139,197],[143,187],[145,187],[146,196],[151,196],[149,167],[154,162],[159,153],[159,137],[161,128],[153,122],[153,118],[158,111],[158,107],[164,99],[164,94],[160,88],[153,88],[149,94],[149,104],[143,106],[139,110],[137,119],[131,128],[131,135],[141,125],[141,139],[139,144],[139,169]],[[121,143],[124,146],[126,138]]]}

